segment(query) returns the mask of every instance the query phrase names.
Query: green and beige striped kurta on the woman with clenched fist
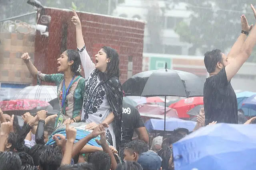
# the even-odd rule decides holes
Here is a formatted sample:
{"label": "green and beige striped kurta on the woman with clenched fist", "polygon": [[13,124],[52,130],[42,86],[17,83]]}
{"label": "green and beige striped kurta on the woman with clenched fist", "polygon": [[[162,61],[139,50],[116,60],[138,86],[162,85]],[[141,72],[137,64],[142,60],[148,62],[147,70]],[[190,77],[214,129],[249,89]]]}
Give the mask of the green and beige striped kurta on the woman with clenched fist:
{"label": "green and beige striped kurta on the woman with clenched fist", "polygon": [[85,92],[85,79],[81,76],[75,76],[68,92],[66,92],[68,87],[64,89],[64,93],[68,94],[62,107],[63,81],[64,74],[42,74],[41,72],[38,72],[38,85],[41,85],[41,82],[50,82],[55,83],[55,85],[57,86],[57,97],[61,109],[58,113],[55,126],[57,125],[60,115],[62,115],[64,122],[68,118],[72,119],[76,116],[81,116],[82,113],[83,96]]}

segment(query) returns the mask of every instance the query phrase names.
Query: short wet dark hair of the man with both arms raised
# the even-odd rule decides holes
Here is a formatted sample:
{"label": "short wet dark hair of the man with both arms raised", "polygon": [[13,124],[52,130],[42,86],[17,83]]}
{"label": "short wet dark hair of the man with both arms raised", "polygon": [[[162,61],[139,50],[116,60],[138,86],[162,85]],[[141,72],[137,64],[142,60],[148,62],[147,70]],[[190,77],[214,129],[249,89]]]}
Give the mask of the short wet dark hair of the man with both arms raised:
{"label": "short wet dark hair of the man with both arms raised", "polygon": [[216,70],[216,64],[222,62],[222,54],[219,49],[207,51],[204,54],[204,65],[208,73],[212,73]]}

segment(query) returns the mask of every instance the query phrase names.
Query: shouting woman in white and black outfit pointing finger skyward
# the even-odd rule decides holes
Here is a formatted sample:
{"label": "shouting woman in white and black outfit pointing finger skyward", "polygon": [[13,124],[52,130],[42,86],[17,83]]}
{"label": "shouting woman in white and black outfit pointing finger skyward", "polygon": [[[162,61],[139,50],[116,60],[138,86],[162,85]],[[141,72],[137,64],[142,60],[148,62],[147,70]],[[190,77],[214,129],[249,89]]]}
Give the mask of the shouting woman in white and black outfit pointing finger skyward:
{"label": "shouting woman in white and black outfit pointing finger skyward", "polygon": [[82,35],[82,26],[74,11],[71,21],[76,25],[76,43],[86,82],[82,121],[92,130],[100,123],[107,123],[106,139],[118,148],[123,91],[119,80],[119,55],[111,47],[102,47],[95,55],[95,64],[88,55]]}

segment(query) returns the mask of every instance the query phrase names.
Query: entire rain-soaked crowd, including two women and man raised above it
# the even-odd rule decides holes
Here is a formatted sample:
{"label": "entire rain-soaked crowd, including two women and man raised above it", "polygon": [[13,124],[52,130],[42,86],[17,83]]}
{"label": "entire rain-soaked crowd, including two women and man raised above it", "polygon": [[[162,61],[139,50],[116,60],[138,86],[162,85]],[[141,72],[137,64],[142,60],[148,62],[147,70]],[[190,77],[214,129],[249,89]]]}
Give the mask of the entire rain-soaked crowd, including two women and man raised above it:
{"label": "entire rain-soaked crowd, including two women and man raised above it", "polygon": [[[24,113],[20,127],[16,115],[6,115],[0,109],[0,170],[174,170],[173,143],[205,125],[238,123],[236,94],[230,81],[256,45],[256,27],[249,26],[244,15],[242,32],[227,56],[218,49],[204,54],[210,76],[204,84],[204,108],[194,130],[180,128],[154,137],[148,134],[138,110],[122,100],[116,50],[102,47],[93,63],[75,11],[71,21],[78,49],[67,49],[57,59],[62,73],[43,74],[28,53],[22,55],[39,85],[56,84],[60,112],[48,116],[45,110],[35,115]],[[51,121],[54,127],[48,125]],[[64,133],[58,133],[60,127],[65,127]],[[77,140],[81,129],[88,133]],[[90,143],[93,139],[97,146]]]}

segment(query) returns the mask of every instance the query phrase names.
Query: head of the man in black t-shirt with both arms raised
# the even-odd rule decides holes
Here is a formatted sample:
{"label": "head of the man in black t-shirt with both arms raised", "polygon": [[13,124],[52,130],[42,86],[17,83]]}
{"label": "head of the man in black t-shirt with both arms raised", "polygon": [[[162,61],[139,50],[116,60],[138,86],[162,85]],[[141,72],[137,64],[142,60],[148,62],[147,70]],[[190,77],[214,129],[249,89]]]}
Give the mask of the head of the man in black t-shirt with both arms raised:
{"label": "head of the man in black t-shirt with both arms raised", "polygon": [[228,57],[219,49],[207,51],[204,54],[204,65],[208,73],[218,73],[222,68],[228,65]]}

